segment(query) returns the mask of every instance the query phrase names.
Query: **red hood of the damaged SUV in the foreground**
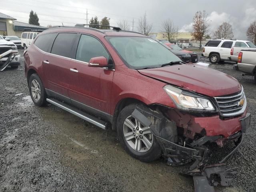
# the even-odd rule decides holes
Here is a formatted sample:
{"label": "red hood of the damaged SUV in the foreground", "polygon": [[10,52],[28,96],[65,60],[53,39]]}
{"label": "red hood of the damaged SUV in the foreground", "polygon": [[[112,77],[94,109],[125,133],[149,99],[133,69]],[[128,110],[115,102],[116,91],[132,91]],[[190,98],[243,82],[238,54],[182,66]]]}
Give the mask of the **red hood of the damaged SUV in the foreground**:
{"label": "red hood of the damaged SUV in the foreground", "polygon": [[207,96],[229,95],[241,90],[235,78],[197,64],[138,70],[140,74]]}

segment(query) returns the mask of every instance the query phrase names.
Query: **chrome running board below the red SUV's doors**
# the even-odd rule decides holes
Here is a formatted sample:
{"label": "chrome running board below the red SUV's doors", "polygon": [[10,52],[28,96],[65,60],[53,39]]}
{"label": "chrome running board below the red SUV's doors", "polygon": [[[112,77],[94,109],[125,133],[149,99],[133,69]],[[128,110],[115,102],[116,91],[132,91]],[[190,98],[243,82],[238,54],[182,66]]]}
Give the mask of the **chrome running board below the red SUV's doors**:
{"label": "chrome running board below the red SUV's doors", "polygon": [[74,114],[75,116],[82,118],[83,120],[90,122],[91,124],[94,124],[102,129],[106,130],[106,122],[104,122],[102,120],[99,120],[89,114],[86,114],[85,112],[82,112],[82,111],[80,111],[72,106],[69,106],[68,104],[62,103],[56,99],[53,99],[53,98],[48,99],[47,98],[46,101],[59,107],[59,108],[66,110],[67,112]]}

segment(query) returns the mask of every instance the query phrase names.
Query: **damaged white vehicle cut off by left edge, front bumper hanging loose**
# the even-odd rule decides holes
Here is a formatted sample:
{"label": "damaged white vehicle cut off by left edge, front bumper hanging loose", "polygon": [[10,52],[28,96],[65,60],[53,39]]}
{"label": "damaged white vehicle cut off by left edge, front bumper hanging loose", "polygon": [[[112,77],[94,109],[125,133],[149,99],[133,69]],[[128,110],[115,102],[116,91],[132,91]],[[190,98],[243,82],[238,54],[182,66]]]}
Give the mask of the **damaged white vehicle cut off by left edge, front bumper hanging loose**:
{"label": "damaged white vehicle cut off by left edge, front bumper hanging loose", "polygon": [[[4,53],[9,50],[12,50],[12,51],[10,51],[9,54],[4,55]],[[12,53],[13,54],[18,53],[17,46],[13,42],[4,40],[4,38],[0,36],[0,66],[5,64],[6,60],[8,60],[8,57]],[[18,68],[19,65],[20,65],[20,55],[16,55],[15,58],[12,60],[12,62],[9,64],[9,66],[11,66],[11,68]]]}

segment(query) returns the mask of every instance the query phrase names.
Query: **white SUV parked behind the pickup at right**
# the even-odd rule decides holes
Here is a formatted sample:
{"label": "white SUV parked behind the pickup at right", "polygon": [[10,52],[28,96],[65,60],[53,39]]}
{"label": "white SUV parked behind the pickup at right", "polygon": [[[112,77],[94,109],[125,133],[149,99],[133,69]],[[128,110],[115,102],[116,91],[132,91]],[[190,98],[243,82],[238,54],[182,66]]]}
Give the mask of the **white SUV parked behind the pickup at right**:
{"label": "white SUV parked behind the pickup at right", "polygon": [[206,43],[202,55],[208,57],[210,62],[214,64],[220,60],[237,62],[240,50],[255,48],[256,46],[250,41],[213,39]]}

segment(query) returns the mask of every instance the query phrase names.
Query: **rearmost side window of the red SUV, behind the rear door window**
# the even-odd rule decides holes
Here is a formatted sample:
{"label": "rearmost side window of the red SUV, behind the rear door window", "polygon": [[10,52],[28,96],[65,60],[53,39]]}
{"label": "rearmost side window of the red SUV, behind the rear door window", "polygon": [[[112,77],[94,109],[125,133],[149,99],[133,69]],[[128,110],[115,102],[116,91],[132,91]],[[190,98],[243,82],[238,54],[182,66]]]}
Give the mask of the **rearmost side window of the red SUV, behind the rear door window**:
{"label": "rearmost side window of the red SUV, behind the rear door window", "polygon": [[49,34],[40,35],[38,36],[34,44],[44,52],[50,53],[52,44],[57,35],[58,33],[49,33]]}

